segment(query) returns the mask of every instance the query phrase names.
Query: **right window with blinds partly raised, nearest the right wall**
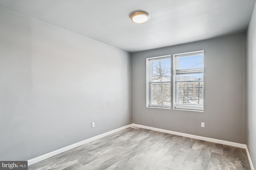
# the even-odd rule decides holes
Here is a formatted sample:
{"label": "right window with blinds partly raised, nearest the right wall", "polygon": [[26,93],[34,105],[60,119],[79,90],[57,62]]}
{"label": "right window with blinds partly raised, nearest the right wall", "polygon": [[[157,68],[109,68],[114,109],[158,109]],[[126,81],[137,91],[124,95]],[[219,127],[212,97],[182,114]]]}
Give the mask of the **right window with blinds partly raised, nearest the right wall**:
{"label": "right window with blinds partly raised, nearest the right wall", "polygon": [[173,55],[174,108],[204,110],[204,51]]}

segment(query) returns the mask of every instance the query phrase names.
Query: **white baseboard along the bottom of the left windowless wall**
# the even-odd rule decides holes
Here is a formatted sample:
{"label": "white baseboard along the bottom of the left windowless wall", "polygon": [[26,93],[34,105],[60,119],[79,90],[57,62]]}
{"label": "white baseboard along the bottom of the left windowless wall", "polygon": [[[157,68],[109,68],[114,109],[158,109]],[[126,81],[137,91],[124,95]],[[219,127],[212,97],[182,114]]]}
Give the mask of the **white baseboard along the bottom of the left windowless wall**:
{"label": "white baseboard along the bottom of the left windowless wall", "polygon": [[49,152],[49,153],[47,153],[47,154],[38,156],[38,157],[36,157],[36,158],[32,158],[32,159],[28,160],[28,166],[31,165],[31,164],[34,164],[34,163],[36,163],[36,162],[39,162],[39,161],[41,161],[41,160],[44,160],[44,159],[50,158],[50,157],[52,157],[52,156],[55,156],[55,155],[57,155],[57,154],[60,154],[60,153],[62,153],[62,152],[66,152],[67,150],[74,149],[74,148],[79,147],[79,146],[81,146],[81,145],[84,145],[84,144],[86,144],[86,143],[95,141],[95,140],[97,140],[97,139],[100,139],[100,138],[105,137],[105,136],[108,136],[108,135],[111,135],[112,133],[116,133],[116,132],[118,132],[118,131],[121,131],[121,130],[126,129],[126,128],[131,127],[131,126],[132,126],[132,124],[126,125],[126,126],[123,126],[123,127],[118,128],[118,129],[114,129],[114,130],[112,130],[112,131],[103,133],[103,134],[101,134],[101,135],[97,135],[97,136],[95,136],[95,137],[91,137],[91,138],[86,139],[86,140],[84,140],[84,141],[80,141],[80,142],[78,142],[78,143],[74,143],[74,144],[69,145],[69,146],[67,146],[67,147],[64,147],[64,148],[61,148],[61,149],[58,149],[58,150],[54,150],[54,151],[52,151],[52,152]]}

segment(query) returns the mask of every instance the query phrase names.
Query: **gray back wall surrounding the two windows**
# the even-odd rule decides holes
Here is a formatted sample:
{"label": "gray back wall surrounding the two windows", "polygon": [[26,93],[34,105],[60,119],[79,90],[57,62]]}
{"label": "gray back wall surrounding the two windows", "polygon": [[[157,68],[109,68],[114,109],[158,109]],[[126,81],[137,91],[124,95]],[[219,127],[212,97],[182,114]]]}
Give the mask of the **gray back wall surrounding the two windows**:
{"label": "gray back wall surrounding the two windows", "polygon": [[[200,50],[204,50],[204,112],[147,108],[146,58]],[[137,124],[245,143],[245,35],[132,53],[132,106]]]}

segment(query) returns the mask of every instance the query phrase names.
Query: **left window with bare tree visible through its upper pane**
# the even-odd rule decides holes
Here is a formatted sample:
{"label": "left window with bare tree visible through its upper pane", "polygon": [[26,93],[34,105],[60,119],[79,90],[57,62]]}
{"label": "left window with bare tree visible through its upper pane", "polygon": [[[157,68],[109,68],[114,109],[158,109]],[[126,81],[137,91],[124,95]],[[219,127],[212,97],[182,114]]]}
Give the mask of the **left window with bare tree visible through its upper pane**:
{"label": "left window with bare tree visible through its upper pane", "polygon": [[171,107],[170,55],[147,59],[147,107]]}

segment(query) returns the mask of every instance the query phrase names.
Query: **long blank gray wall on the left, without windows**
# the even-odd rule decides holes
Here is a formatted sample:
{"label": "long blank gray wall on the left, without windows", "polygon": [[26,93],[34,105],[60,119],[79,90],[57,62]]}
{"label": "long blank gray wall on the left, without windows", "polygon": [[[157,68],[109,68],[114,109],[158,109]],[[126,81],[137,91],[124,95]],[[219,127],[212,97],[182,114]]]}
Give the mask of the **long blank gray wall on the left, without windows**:
{"label": "long blank gray wall on the left, without windows", "polygon": [[0,160],[132,123],[130,53],[3,8],[0,37]]}

